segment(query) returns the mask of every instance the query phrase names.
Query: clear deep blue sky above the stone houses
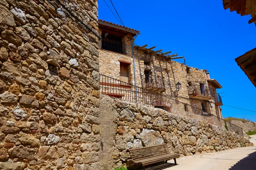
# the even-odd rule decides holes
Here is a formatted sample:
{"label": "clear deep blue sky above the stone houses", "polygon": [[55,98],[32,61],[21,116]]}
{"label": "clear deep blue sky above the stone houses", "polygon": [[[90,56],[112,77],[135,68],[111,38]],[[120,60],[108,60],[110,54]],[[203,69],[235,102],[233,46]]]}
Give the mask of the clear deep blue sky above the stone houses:
{"label": "clear deep blue sky above the stone houses", "polygon": [[[105,0],[114,11],[110,0]],[[223,88],[223,117],[256,122],[256,88],[239,68],[235,58],[256,47],[256,27],[250,16],[224,10],[222,0],[112,0],[126,27],[140,31],[138,45],[172,51],[186,58],[186,64],[207,69]],[[98,1],[99,19],[118,20],[103,0]],[[178,60],[183,62],[183,59]]]}

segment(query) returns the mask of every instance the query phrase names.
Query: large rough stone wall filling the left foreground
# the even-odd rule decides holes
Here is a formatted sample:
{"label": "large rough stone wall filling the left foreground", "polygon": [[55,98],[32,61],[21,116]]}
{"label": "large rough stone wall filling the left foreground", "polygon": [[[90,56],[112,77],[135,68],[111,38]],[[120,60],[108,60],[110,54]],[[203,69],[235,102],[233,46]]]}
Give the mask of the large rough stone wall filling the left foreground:
{"label": "large rough stone wall filling the left foreground", "polygon": [[[97,0],[64,5],[98,32]],[[55,1],[0,9],[0,169],[99,170],[98,38]]]}

